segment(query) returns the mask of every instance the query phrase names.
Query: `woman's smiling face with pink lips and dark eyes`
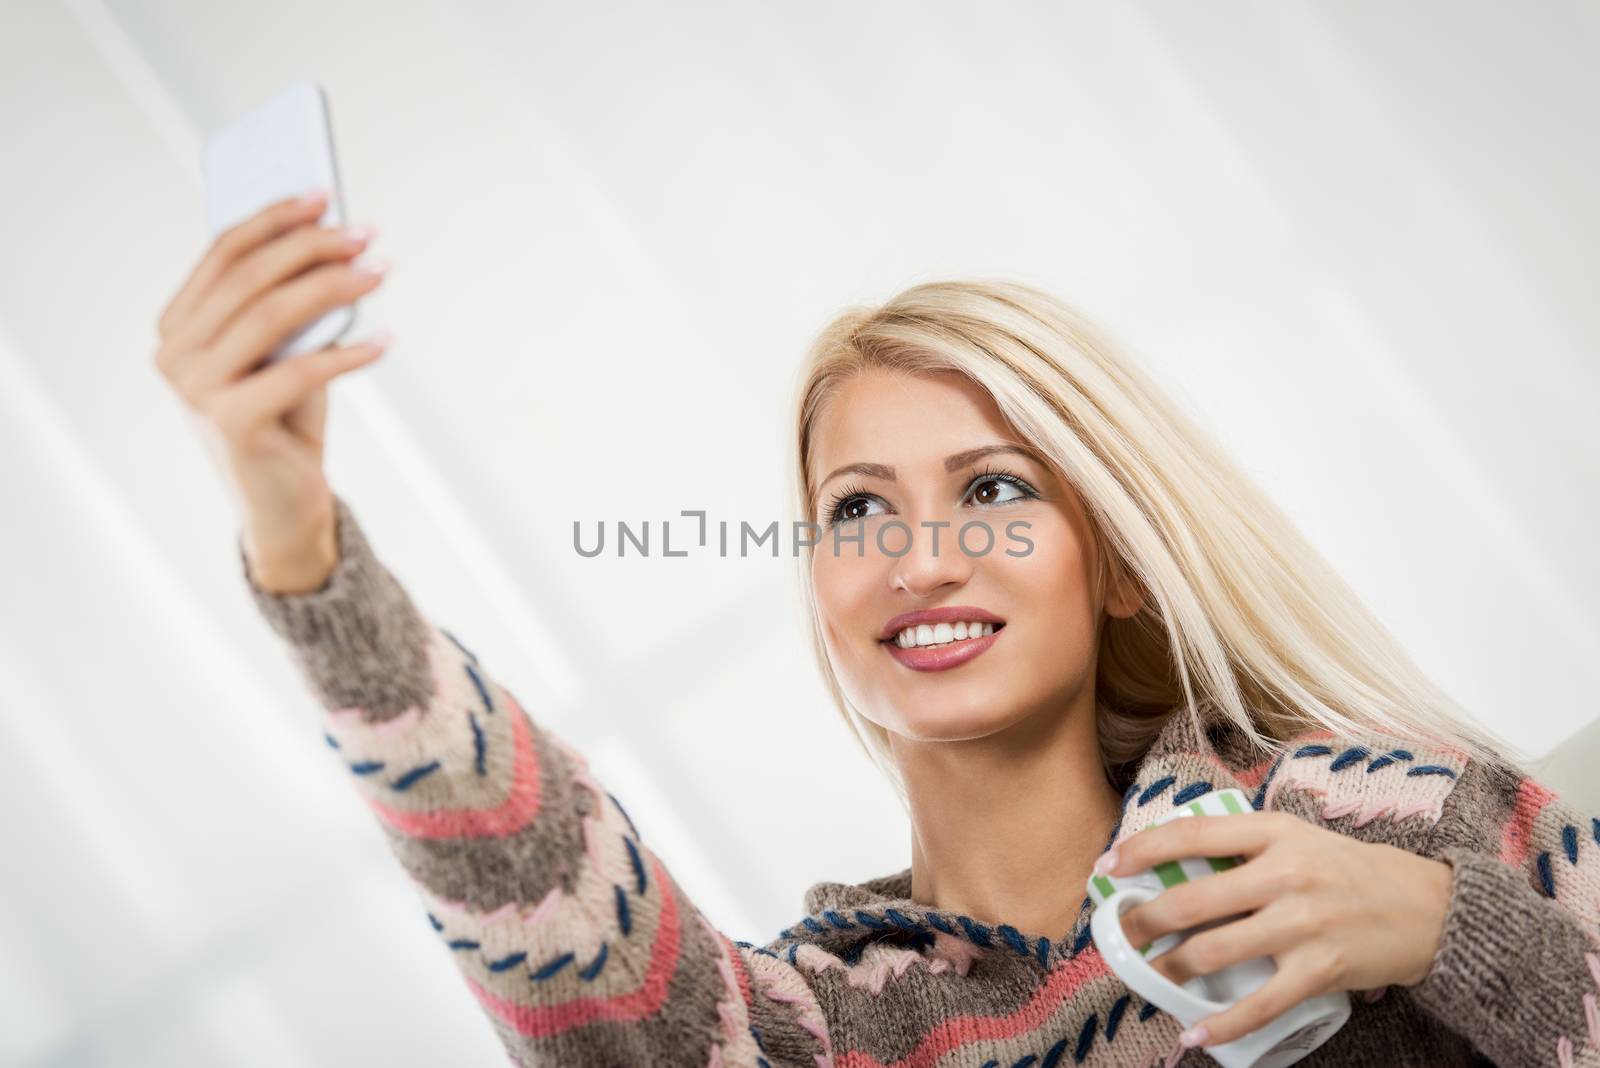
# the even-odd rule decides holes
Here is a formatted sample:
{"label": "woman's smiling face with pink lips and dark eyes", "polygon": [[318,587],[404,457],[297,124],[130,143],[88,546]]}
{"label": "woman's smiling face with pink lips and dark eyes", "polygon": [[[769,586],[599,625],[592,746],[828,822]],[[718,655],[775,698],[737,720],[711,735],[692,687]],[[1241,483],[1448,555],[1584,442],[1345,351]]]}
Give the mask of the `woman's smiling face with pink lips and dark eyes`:
{"label": "woman's smiling face with pink lips and dark eyes", "polygon": [[[1101,612],[1136,604],[1115,592],[1091,603],[1078,497],[986,390],[955,373],[856,374],[818,416],[811,470],[822,635],[867,719],[907,739],[974,739],[1061,715],[1093,686]],[[954,609],[949,632],[917,625],[938,609]],[[994,633],[952,625],[974,620]],[[907,624],[922,646],[904,648]]]}

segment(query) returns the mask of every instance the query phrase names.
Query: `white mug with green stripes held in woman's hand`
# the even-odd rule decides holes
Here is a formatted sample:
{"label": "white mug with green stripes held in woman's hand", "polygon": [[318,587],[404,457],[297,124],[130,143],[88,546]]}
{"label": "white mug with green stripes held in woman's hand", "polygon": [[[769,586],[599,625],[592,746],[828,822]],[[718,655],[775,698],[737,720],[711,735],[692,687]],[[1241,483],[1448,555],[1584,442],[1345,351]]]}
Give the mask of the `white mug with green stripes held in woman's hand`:
{"label": "white mug with green stripes held in woman's hand", "polygon": [[[1173,809],[1155,822],[1235,812],[1254,812],[1245,791],[1214,790]],[[1226,871],[1237,863],[1242,863],[1240,857],[1184,857],[1133,875],[1090,876],[1088,891],[1094,902],[1090,931],[1094,934],[1094,945],[1106,964],[1122,982],[1144,999],[1178,1017],[1186,1028],[1243,1001],[1272,978],[1277,964],[1270,956],[1258,956],[1229,964],[1210,975],[1194,975],[1179,985],[1157,972],[1149,962],[1181,945],[1189,935],[1232,923],[1235,918],[1224,916],[1189,931],[1174,931],[1144,948],[1134,948],[1122,931],[1122,915],[1134,905],[1154,899],[1170,886]],[[1349,1018],[1350,996],[1342,990],[1334,990],[1307,998],[1250,1034],[1232,1042],[1208,1046],[1205,1052],[1224,1068],[1282,1068],[1293,1065],[1326,1042]]]}

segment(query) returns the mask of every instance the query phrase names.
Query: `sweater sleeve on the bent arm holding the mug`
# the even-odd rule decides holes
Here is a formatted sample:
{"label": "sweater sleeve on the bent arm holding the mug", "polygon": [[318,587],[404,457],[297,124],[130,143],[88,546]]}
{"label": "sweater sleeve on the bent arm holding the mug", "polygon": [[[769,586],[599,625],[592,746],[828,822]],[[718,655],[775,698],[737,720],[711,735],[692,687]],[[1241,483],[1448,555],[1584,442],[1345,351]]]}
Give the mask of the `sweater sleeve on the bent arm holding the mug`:
{"label": "sweater sleeve on the bent arm holding the mug", "polygon": [[1453,875],[1414,999],[1501,1068],[1600,1062],[1600,820],[1467,761],[1422,852]]}

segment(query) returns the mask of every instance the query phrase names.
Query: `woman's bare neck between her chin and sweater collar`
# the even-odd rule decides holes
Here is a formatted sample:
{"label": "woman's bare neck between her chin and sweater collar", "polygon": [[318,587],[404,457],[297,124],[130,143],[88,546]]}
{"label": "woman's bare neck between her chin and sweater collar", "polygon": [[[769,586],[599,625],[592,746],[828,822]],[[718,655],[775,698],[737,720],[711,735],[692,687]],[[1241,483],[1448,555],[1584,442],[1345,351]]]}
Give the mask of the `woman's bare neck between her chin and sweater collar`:
{"label": "woman's bare neck between her chin and sweater collar", "polygon": [[1094,695],[963,742],[891,735],[912,820],[912,899],[1024,934],[1070,931],[1122,798]]}

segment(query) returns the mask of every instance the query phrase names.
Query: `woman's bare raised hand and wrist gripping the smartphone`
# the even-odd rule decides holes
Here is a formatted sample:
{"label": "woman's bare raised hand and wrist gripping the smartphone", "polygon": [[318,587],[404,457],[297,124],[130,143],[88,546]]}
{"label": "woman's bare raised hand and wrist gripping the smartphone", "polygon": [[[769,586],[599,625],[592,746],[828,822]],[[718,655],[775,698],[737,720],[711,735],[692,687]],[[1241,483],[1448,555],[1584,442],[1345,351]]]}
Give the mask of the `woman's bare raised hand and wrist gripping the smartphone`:
{"label": "woman's bare raised hand and wrist gripping the smartphone", "polygon": [[251,574],[277,593],[315,590],[338,564],[322,470],[326,387],[387,342],[266,363],[293,333],[382,281],[384,264],[350,262],[371,230],[318,225],[325,205],[326,193],[282,200],[224,230],[157,323],[155,366],[235,497]]}

